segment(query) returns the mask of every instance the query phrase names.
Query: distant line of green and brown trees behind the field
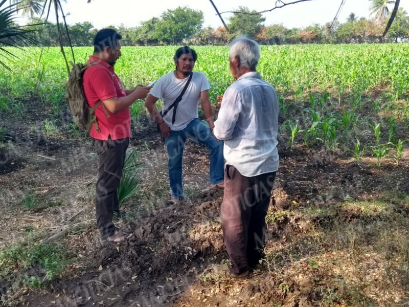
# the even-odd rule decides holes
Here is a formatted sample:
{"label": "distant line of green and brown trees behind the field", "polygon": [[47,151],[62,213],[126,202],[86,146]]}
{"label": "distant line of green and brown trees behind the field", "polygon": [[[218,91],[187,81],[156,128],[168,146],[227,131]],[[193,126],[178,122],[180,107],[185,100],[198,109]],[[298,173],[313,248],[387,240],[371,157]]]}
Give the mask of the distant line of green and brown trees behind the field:
{"label": "distant line of green and brown trees behind the field", "polygon": [[[409,16],[400,8],[387,36],[382,38],[390,15],[383,11],[372,19],[359,18],[351,13],[344,23],[339,21],[325,25],[314,24],[305,28],[288,29],[282,24],[265,26],[265,18],[256,11],[239,7],[229,19],[228,28],[203,28],[203,13],[188,7],[167,10],[157,18],[143,21],[136,27],[115,28],[122,35],[123,46],[163,45],[225,45],[238,34],[245,34],[263,45],[287,45],[297,43],[373,43],[409,40]],[[32,17],[33,35],[44,46],[59,46],[57,25]],[[38,25],[40,24],[40,25]],[[67,25],[73,46],[91,46],[98,29],[85,21]],[[61,24],[60,29],[64,29]],[[63,31],[61,40],[69,46],[69,36]]]}

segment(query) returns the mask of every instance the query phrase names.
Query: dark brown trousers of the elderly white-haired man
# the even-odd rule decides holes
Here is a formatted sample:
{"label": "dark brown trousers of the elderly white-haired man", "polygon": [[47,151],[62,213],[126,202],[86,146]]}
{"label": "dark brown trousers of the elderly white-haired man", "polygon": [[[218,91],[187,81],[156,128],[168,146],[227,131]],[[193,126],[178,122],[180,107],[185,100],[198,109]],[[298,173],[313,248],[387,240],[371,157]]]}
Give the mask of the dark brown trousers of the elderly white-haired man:
{"label": "dark brown trousers of the elderly white-haired man", "polygon": [[233,273],[244,273],[264,257],[265,216],[275,179],[276,172],[245,177],[226,165],[221,227]]}

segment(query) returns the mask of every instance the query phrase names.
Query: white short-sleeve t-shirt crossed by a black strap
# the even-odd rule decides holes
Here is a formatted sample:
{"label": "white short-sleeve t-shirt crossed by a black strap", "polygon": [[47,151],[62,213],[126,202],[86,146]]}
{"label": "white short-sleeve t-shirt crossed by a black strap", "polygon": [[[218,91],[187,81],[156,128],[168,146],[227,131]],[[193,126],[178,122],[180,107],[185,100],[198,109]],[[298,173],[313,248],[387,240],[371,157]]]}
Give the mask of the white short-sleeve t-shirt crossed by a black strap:
{"label": "white short-sleeve t-shirt crossed by a black strap", "polygon": [[[166,110],[179,97],[188,79],[189,77],[180,80],[176,78],[173,72],[170,72],[157,80],[150,94],[163,99],[163,110]],[[163,118],[171,130],[182,130],[197,118],[200,92],[207,90],[210,90],[210,84],[205,74],[193,72],[192,80],[177,106],[175,123],[172,125],[173,107]]]}

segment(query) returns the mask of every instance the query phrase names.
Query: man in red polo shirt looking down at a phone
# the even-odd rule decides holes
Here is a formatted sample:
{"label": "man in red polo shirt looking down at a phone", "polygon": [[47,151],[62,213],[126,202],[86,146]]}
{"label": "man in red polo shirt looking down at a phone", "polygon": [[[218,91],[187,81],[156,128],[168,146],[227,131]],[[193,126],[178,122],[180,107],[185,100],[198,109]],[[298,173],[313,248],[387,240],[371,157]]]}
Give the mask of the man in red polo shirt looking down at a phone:
{"label": "man in red polo shirt looking down at a phone", "polygon": [[125,90],[121,80],[113,71],[113,65],[121,56],[122,36],[113,29],[102,29],[94,38],[94,54],[89,56],[88,67],[83,76],[84,94],[92,108],[102,101],[95,110],[97,125],[89,135],[99,156],[98,181],[96,187],[96,216],[101,239],[122,242],[132,236],[118,231],[112,223],[113,213],[119,212],[118,187],[125,162],[125,152],[130,137],[129,106],[138,99],[144,99],[149,87],[137,86]]}

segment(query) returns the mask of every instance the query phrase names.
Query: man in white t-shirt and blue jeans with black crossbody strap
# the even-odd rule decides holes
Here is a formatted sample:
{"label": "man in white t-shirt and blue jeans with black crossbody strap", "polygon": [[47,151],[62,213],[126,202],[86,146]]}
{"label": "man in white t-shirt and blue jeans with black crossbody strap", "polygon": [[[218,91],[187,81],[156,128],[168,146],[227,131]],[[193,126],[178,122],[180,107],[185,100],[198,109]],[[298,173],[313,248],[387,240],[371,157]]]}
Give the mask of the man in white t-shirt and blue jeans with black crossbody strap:
{"label": "man in white t-shirt and blue jeans with black crossbody strap", "polygon": [[[224,160],[223,142],[219,142],[213,136],[214,124],[212,106],[209,100],[209,81],[205,74],[193,72],[197,59],[196,52],[188,46],[180,47],[176,50],[173,59],[176,69],[157,80],[145,101],[145,106],[161,128],[161,135],[168,151],[171,201],[178,203],[184,199],[182,158],[187,138],[210,149],[210,182],[214,188],[224,187]],[[180,102],[174,104],[186,85]],[[158,99],[163,99],[163,111],[168,111],[163,117],[155,107]],[[209,126],[198,119],[199,100]],[[172,104],[174,104],[173,107],[171,107]]]}

